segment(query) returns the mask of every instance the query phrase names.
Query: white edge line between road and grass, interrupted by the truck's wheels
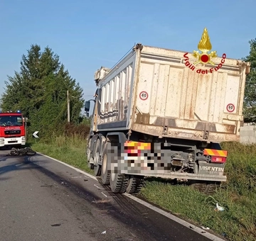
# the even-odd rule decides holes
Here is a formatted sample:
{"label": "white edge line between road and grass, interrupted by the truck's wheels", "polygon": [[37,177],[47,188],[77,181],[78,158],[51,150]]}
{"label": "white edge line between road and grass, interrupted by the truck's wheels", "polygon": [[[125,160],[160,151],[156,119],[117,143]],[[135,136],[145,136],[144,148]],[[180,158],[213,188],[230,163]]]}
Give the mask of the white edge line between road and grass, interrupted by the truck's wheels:
{"label": "white edge line between road and grass, interrupted by the truck's wheels", "polygon": [[[55,162],[59,162],[59,163],[65,165],[65,166],[67,166],[67,167],[70,167],[71,169],[74,169],[75,171],[80,172],[80,173],[82,173],[82,174],[84,174],[84,175],[90,177],[91,179],[97,180],[97,178],[96,178],[95,176],[92,176],[91,174],[89,174],[89,173],[87,173],[87,172],[85,172],[85,171],[82,171],[82,170],[80,170],[80,169],[78,169],[78,168],[76,168],[76,167],[73,167],[73,166],[71,166],[70,164],[67,164],[67,163],[65,163],[65,162],[61,162],[60,160],[55,159],[55,158],[53,158],[53,157],[49,157],[49,156],[47,156],[47,155],[43,155],[43,154],[40,153],[40,152],[37,152],[37,153],[38,153],[39,155],[44,156],[44,157],[48,157],[49,159],[52,159],[52,160],[54,160]],[[105,195],[105,194],[103,194],[103,195]],[[200,235],[203,235],[203,236],[207,237],[207,238],[210,239],[210,240],[213,240],[213,241],[225,241],[225,240],[221,239],[220,237],[217,237],[217,236],[211,234],[210,232],[206,232],[206,230],[203,230],[202,228],[198,228],[197,226],[195,226],[195,225],[193,225],[193,224],[191,224],[191,223],[188,223],[188,222],[186,222],[185,220],[176,217],[175,215],[172,215],[171,213],[167,213],[166,211],[163,211],[163,210],[161,210],[160,208],[156,208],[155,206],[151,205],[150,203],[146,203],[146,201],[142,201],[141,199],[139,199],[139,198],[137,198],[137,197],[135,197],[135,196],[132,196],[131,194],[124,193],[123,195],[124,195],[124,196],[127,196],[128,198],[131,198],[131,199],[134,200],[134,201],[137,201],[137,203],[140,203],[140,204],[142,204],[143,206],[146,206],[147,208],[150,208],[151,210],[155,211],[156,213],[160,213],[161,215],[164,215],[166,218],[169,218],[169,219],[171,219],[171,220],[174,220],[176,223],[179,223],[179,224],[185,226],[186,228],[189,228],[189,229],[191,229],[191,230],[193,230],[193,231],[195,231],[195,232],[198,232]],[[106,195],[105,195],[105,196],[106,196]],[[106,196],[106,197],[107,197],[107,196]]]}

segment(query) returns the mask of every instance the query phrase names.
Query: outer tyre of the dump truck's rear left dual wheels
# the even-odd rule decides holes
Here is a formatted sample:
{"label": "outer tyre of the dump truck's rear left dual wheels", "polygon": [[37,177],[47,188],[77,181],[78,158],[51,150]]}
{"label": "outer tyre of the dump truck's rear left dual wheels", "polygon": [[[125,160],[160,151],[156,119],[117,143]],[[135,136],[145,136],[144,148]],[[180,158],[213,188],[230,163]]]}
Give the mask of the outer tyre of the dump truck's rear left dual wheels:
{"label": "outer tyre of the dump truck's rear left dual wheels", "polygon": [[114,194],[124,194],[127,189],[129,177],[125,174],[110,174],[110,188]]}

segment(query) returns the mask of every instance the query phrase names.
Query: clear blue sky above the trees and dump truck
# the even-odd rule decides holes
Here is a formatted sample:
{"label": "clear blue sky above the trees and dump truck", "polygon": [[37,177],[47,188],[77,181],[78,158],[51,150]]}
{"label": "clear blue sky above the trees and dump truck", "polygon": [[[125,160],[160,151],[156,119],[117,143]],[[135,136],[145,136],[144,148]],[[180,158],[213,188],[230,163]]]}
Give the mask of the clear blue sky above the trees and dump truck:
{"label": "clear blue sky above the trees and dump truck", "polygon": [[50,47],[84,91],[134,45],[193,52],[208,29],[213,50],[241,59],[256,38],[255,0],[0,0],[0,95],[32,44]]}

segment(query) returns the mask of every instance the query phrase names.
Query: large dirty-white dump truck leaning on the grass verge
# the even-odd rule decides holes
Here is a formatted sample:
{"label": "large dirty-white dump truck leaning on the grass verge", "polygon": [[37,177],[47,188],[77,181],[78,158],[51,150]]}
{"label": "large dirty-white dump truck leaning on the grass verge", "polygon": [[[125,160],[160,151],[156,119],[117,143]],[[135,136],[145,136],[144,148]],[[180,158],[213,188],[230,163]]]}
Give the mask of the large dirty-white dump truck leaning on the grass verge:
{"label": "large dirty-white dump truck leaning on the grass verge", "polygon": [[85,101],[85,113],[94,103],[87,162],[113,193],[137,193],[150,176],[205,194],[227,180],[220,142],[239,141],[250,62],[209,48],[139,43],[95,72],[95,99]]}

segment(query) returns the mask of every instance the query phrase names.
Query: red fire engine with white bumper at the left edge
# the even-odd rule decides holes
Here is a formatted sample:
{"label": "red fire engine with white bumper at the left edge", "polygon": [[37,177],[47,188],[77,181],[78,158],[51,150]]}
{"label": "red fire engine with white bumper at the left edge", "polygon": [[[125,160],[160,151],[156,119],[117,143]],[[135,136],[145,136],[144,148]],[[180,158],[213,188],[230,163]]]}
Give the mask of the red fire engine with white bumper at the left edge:
{"label": "red fire engine with white bumper at the left edge", "polygon": [[0,113],[0,147],[26,145],[26,128],[22,113]]}

